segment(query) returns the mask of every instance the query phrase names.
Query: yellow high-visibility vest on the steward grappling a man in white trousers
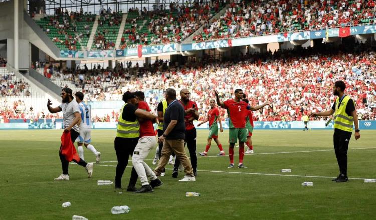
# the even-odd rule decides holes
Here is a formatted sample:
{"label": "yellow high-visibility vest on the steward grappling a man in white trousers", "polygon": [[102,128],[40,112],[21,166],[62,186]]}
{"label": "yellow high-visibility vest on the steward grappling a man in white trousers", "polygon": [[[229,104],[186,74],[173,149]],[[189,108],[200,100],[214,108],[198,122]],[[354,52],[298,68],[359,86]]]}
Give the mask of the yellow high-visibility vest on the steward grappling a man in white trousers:
{"label": "yellow high-visibility vest on the steward grappling a man in white trousers", "polygon": [[134,122],[126,121],[123,119],[123,110],[124,107],[121,108],[119,122],[117,123],[117,130],[116,136],[122,138],[137,138],[140,136],[140,123],[138,119]]}

